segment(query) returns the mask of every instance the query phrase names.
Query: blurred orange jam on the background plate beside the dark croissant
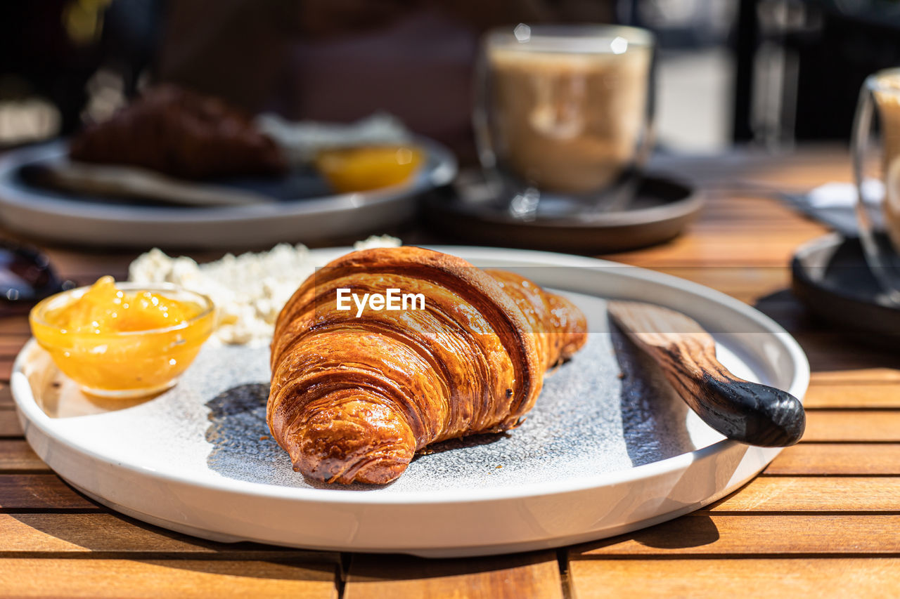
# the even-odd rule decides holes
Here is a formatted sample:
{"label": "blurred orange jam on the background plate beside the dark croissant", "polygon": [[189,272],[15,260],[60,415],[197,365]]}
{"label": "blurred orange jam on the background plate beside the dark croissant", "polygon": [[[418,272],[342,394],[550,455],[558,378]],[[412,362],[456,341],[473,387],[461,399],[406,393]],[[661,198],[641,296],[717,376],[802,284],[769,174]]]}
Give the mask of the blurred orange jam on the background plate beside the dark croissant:
{"label": "blurred orange jam on the background plate beside the dark croissant", "polygon": [[335,192],[365,192],[406,183],[422,164],[422,151],[411,146],[373,146],[325,150],[316,167]]}

